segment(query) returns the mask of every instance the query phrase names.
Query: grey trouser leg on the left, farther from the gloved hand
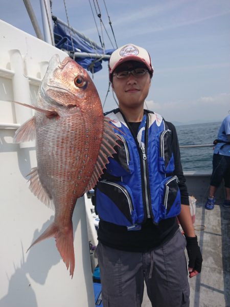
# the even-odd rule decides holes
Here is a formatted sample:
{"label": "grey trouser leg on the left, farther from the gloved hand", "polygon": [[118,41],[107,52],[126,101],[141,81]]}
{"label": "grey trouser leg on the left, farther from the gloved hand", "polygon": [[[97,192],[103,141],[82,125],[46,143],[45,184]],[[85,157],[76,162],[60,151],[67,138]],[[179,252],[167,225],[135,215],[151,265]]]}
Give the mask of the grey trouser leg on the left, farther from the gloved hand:
{"label": "grey trouser leg on the left, farther from the gloved hand", "polygon": [[144,294],[143,254],[98,244],[96,249],[104,307],[141,307]]}

